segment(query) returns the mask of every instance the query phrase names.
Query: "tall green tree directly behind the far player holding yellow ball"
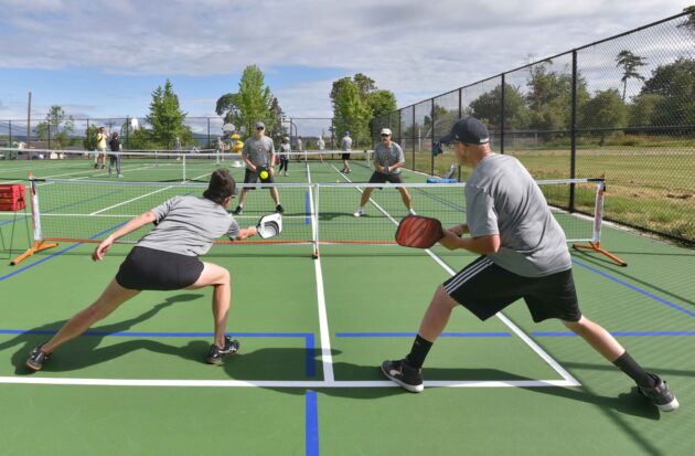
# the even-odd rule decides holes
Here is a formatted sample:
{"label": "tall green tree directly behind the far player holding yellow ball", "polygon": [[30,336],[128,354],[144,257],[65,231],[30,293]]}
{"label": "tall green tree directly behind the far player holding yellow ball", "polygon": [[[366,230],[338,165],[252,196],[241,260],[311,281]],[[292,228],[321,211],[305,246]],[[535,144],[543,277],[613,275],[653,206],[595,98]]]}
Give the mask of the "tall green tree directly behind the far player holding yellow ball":
{"label": "tall green tree directly behind the far player holding yellow ball", "polygon": [[221,96],[215,112],[218,116],[224,115],[226,123],[244,127],[250,135],[257,121],[266,125],[266,131],[275,131],[276,124],[281,123],[282,109],[270,88],[265,86],[265,76],[260,68],[249,65],[242,74],[239,91]]}

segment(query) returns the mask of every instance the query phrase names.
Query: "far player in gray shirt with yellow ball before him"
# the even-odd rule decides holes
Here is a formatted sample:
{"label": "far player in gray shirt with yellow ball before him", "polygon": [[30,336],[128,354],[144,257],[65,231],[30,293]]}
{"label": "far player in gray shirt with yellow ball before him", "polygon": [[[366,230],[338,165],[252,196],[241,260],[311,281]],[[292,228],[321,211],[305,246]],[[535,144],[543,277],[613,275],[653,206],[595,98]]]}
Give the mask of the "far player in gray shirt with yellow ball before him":
{"label": "far player in gray shirt with yellow ball before him", "polygon": [[[256,124],[256,134],[244,142],[242,149],[242,159],[246,163],[246,172],[244,174],[244,183],[256,183],[260,179],[260,183],[275,183],[275,145],[272,139],[266,136],[266,126],[259,121]],[[244,213],[244,202],[248,190],[254,188],[244,187],[239,197],[239,204],[234,210],[235,215]],[[275,202],[275,211],[284,213],[285,210],[280,205],[280,195],[278,189],[270,187],[270,197]]]}

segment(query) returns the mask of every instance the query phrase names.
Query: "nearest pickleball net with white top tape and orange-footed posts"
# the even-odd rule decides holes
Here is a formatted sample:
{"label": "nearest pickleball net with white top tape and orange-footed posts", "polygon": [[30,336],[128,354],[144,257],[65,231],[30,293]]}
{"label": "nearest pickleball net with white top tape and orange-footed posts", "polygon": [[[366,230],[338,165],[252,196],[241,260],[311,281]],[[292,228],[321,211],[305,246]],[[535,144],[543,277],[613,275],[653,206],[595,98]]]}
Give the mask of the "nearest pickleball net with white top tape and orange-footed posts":
{"label": "nearest pickleball net with white top tape and orange-footed posts", "polygon": [[[570,243],[579,247],[600,248],[602,199],[605,182],[601,179],[538,181],[546,199],[553,204],[575,193],[577,201],[586,203],[591,215],[577,216],[554,210],[556,220]],[[466,183],[432,184],[367,184],[367,183],[276,183],[239,184],[249,188],[249,194],[239,215],[239,225],[255,225],[258,220],[275,211],[269,189],[275,187],[285,208],[281,235],[263,240],[244,241],[220,238],[217,244],[307,244],[314,256],[321,245],[396,245],[394,234],[400,219],[407,215],[398,187],[405,188],[413,199],[413,209],[419,215],[438,219],[451,226],[466,221],[463,189]],[[60,179],[30,180],[32,201],[33,245],[13,261],[19,263],[35,252],[56,243],[98,243],[130,219],[150,211],[175,195],[202,197],[207,188],[199,182],[124,182],[76,181]],[[354,216],[362,192],[373,188],[372,198],[361,216]],[[233,201],[229,210],[236,206]],[[132,244],[153,226],[143,226],[121,237],[118,243]],[[608,253],[606,253],[608,254]],[[610,255],[610,254],[609,254]]]}

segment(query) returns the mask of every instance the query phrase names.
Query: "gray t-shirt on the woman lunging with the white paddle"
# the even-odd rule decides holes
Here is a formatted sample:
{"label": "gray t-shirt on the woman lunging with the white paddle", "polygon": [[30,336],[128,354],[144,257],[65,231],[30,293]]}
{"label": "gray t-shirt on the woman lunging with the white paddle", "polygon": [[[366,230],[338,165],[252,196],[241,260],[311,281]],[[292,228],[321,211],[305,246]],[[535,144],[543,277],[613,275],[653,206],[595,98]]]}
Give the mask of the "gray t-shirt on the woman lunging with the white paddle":
{"label": "gray t-shirt on the woman lunging with the white paddle", "polygon": [[174,197],[152,209],[157,226],[138,246],[199,256],[207,253],[213,241],[239,234],[239,225],[220,204],[200,197]]}

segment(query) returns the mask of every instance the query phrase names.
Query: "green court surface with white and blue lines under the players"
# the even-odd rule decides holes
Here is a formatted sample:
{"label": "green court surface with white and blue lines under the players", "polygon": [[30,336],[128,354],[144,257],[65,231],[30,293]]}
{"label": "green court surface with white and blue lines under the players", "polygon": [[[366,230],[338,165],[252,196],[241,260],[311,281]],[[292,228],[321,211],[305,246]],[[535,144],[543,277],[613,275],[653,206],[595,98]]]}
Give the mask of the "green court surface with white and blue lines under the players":
{"label": "green court surface with white and blue lines under the players", "polygon": [[[291,162],[290,177],[277,180],[365,182],[371,173],[360,163],[350,174],[340,168],[312,162],[307,172]],[[9,176],[4,171],[0,176]],[[71,171],[84,169],[54,173],[89,174]],[[242,180],[242,169],[232,171]],[[360,194],[349,190],[325,219],[356,232],[360,219],[351,212]],[[389,193],[395,190],[375,192],[374,201],[402,215]],[[252,202],[271,205],[266,191],[250,193]],[[114,201],[90,204],[96,212]],[[13,216],[0,213],[6,243]],[[14,224],[13,254],[28,245],[23,216]],[[475,257],[439,246],[430,255],[322,245],[313,259],[311,245],[216,245],[205,261],[232,274],[228,332],[242,343],[223,367],[204,362],[212,317],[211,290],[202,289],[145,291],[30,373],[29,350],[96,298],[129,247],[116,246],[93,263],[93,245],[61,242],[10,266],[6,245],[0,454],[691,454],[695,253],[610,226],[601,244],[629,266],[574,251],[582,311],[669,381],[681,402],[673,413],[648,403],[559,322],[533,324],[523,303],[487,322],[456,309],[427,359],[425,392],[387,382],[381,362],[408,352],[436,286]]]}

